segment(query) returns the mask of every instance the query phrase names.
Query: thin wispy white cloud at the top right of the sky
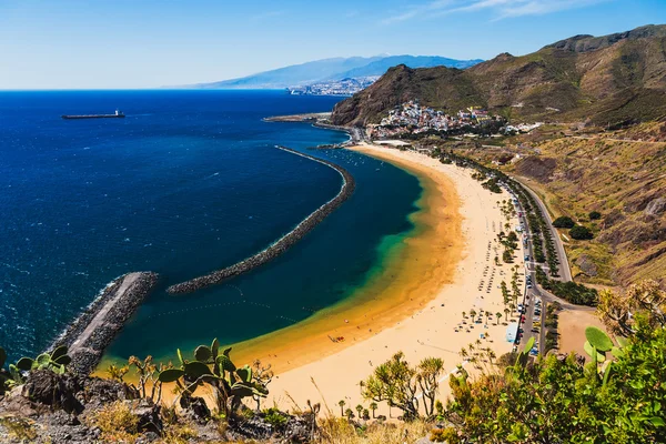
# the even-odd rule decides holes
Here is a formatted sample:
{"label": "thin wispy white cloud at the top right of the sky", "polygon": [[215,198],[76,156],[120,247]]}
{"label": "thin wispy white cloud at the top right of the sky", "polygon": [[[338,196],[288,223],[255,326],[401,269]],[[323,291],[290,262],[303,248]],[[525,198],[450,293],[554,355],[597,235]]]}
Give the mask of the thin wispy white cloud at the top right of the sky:
{"label": "thin wispy white cloud at the top right of the sky", "polygon": [[452,13],[473,13],[488,11],[495,20],[542,16],[568,9],[585,8],[609,0],[435,0],[407,8],[382,21],[391,24],[415,18],[433,18]]}

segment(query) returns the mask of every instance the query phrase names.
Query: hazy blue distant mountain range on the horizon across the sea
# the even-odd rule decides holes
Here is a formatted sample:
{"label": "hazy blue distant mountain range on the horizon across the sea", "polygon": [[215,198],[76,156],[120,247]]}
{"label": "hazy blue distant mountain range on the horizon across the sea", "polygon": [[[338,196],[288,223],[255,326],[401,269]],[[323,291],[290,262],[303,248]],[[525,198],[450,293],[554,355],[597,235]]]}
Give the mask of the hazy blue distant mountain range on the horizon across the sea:
{"label": "hazy blue distant mountain range on the horizon across the sea", "polygon": [[260,72],[240,79],[199,83],[188,88],[202,89],[282,89],[305,87],[312,83],[339,81],[347,78],[383,75],[397,64],[410,68],[448,67],[465,69],[483,60],[455,60],[431,56],[376,56],[315,60],[276,70]]}

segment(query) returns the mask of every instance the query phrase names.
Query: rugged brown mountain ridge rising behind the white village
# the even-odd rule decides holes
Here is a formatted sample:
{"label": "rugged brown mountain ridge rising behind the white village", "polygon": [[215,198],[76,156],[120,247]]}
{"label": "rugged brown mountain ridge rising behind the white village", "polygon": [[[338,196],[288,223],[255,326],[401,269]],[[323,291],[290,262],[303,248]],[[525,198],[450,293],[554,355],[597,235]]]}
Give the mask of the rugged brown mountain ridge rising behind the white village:
{"label": "rugged brown mountain ridge rising behind the white village", "polygon": [[482,105],[525,120],[620,124],[659,118],[666,115],[666,26],[576,36],[466,70],[397,65],[339,103],[332,119],[363,125],[412,99],[451,111]]}

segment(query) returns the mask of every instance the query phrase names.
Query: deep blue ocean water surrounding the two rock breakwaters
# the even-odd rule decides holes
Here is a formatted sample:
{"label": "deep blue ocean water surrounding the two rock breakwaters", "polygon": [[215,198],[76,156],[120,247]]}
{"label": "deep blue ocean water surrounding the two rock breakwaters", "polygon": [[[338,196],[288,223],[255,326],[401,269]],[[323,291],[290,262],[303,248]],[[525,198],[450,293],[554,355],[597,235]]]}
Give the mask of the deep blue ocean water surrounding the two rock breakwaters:
{"label": "deep blue ocean water surrounding the two rock breakwaters", "polygon": [[[161,274],[110,354],[157,356],[216,336],[234,343],[347,297],[386,235],[411,229],[421,188],[390,164],[309,150],[356,192],[296,246],[228,285],[165,286],[262,250],[335,195],[340,175],[274,148],[346,140],[268,115],[330,110],[281,91],[0,92],[0,345],[43,350],[114,278]],[[123,110],[125,119],[60,114]]]}

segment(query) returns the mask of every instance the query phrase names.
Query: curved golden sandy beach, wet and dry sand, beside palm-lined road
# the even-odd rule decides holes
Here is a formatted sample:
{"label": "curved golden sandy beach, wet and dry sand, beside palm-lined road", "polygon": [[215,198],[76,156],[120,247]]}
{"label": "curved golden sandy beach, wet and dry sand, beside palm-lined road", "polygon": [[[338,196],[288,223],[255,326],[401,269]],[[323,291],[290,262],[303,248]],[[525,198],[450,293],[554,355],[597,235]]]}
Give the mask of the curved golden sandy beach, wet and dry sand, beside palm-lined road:
{"label": "curved golden sandy beach, wet and dry sand, beside palm-lined road", "polygon": [[[482,340],[483,346],[492,347],[497,356],[511,351],[512,344],[505,340],[500,283],[505,280],[509,284],[512,265],[494,264],[496,234],[505,222],[496,202],[508,199],[508,194],[492,193],[473,180],[470,171],[423,154],[374,145],[352,149],[392,162],[420,178],[426,202],[416,218],[421,218],[423,232],[405,240],[408,261],[391,276],[387,293],[377,294],[372,304],[342,304],[329,313],[323,324],[313,319],[293,332],[266,337],[273,342],[274,336],[291,336],[294,342],[290,341],[290,346],[278,352],[276,357],[262,359],[275,363],[276,370],[265,405],[276,403],[290,408],[292,398],[300,406],[310,400],[325,402],[333,413],[340,414],[341,400],[352,408],[357,404],[367,407],[359,382],[397,351],[414,364],[426,356],[442,357],[447,371],[462,362],[461,349],[480,339],[481,333],[488,336]],[[519,273],[523,275],[522,266]],[[395,292],[402,296],[395,299]],[[455,332],[462,313],[472,309],[493,313],[487,326],[476,324],[467,332],[464,325]],[[498,324],[497,312],[502,313]],[[332,332],[327,330],[331,326],[335,327]],[[307,334],[307,329],[312,334]],[[349,341],[340,344],[322,340],[327,334]],[[244,351],[238,349],[242,355],[262,349],[261,340],[245,345]],[[447,393],[448,384],[443,381],[440,397],[444,400]],[[381,405],[377,413],[389,414],[387,407]],[[394,410],[393,415],[397,413]]]}

